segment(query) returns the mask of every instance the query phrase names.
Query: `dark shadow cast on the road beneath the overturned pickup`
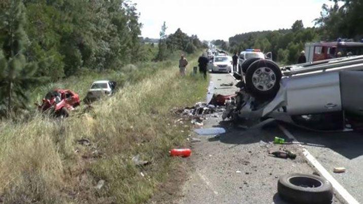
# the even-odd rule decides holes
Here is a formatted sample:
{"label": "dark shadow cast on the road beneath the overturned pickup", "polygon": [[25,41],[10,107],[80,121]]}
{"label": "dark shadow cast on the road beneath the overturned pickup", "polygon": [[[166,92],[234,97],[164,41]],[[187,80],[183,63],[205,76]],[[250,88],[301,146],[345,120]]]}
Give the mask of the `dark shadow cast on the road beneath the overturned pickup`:
{"label": "dark shadow cast on the road beneath the overturned pickup", "polygon": [[221,121],[215,127],[223,127],[226,132],[219,137],[210,138],[209,142],[220,141],[226,144],[251,144],[259,141],[271,142],[274,137],[289,139],[278,128],[278,124],[286,127],[303,145],[331,149],[348,159],[363,155],[362,132],[317,132],[295,127],[278,121],[268,121],[252,128],[242,128],[231,121]]}

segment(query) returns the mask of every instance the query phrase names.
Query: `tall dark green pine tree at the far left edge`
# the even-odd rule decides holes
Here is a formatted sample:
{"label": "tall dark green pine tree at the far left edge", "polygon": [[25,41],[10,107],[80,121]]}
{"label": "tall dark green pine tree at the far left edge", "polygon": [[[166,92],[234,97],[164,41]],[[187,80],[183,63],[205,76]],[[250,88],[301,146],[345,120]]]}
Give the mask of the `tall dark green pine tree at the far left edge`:
{"label": "tall dark green pine tree at the far left edge", "polygon": [[26,91],[39,79],[34,77],[37,66],[27,62],[23,54],[27,37],[23,29],[25,8],[22,1],[11,1],[9,9],[3,13],[0,20],[0,42],[3,42],[3,53],[0,54],[0,103],[10,113],[26,108]]}

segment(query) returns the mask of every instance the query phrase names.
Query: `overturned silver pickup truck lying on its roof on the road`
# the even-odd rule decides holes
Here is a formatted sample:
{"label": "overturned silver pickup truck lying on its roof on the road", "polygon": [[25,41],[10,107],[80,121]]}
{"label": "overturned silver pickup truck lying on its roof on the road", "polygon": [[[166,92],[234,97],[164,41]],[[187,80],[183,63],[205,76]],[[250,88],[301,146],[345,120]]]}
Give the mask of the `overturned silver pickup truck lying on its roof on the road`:
{"label": "overturned silver pickup truck lying on its roof on the road", "polygon": [[363,55],[280,67],[252,58],[223,117],[276,118],[319,130],[363,127]]}

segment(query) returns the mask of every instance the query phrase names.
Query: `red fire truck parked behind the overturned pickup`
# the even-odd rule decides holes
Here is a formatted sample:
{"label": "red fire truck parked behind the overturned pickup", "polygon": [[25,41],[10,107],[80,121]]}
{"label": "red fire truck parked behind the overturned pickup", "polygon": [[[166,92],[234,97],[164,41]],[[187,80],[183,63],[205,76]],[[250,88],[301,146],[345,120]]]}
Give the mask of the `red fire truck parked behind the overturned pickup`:
{"label": "red fire truck parked behind the overturned pickup", "polygon": [[363,43],[359,42],[321,42],[305,44],[307,62],[337,58],[340,52],[342,57],[350,55],[363,55]]}

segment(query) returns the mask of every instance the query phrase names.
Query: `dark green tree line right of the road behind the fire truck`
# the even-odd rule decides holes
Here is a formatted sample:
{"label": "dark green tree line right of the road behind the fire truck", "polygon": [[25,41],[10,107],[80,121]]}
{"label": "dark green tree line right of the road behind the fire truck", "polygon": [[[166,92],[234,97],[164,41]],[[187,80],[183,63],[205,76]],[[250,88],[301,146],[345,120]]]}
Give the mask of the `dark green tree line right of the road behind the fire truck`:
{"label": "dark green tree line right of the road behind the fire truck", "polygon": [[[229,52],[241,52],[248,48],[272,52],[273,60],[280,63],[296,63],[305,43],[336,41],[338,38],[363,38],[363,2],[360,0],[331,0],[334,5],[322,6],[320,17],[315,19],[315,27],[305,28],[302,20],[296,20],[290,29],[247,32],[229,38],[227,42],[215,41]],[[339,6],[339,4],[342,6]]]}

